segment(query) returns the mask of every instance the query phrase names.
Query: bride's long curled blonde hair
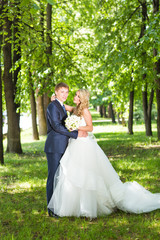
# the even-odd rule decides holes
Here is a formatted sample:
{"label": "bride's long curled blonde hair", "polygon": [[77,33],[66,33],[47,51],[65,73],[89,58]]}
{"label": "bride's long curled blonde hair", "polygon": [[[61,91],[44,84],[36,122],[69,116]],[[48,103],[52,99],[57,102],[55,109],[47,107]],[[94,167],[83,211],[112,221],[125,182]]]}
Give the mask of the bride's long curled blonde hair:
{"label": "bride's long curled blonde hair", "polygon": [[79,92],[80,104],[74,109],[74,114],[81,117],[83,110],[89,107],[89,91],[80,89],[77,92]]}

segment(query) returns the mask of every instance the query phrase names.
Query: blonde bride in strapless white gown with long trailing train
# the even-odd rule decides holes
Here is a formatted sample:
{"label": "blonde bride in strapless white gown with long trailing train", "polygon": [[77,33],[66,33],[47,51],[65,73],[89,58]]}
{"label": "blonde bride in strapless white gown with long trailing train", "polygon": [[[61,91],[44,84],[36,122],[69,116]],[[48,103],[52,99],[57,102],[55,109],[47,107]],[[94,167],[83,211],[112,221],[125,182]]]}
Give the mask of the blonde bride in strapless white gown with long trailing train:
{"label": "blonde bride in strapless white gown with long trailing train", "polygon": [[[81,117],[79,130],[92,132],[88,110],[89,92],[78,90],[76,107],[67,111]],[[115,209],[130,213],[160,208],[160,194],[153,194],[137,182],[122,183],[107,156],[88,133],[86,138],[70,139],[54,179],[54,191],[48,204],[58,216],[96,218]]]}

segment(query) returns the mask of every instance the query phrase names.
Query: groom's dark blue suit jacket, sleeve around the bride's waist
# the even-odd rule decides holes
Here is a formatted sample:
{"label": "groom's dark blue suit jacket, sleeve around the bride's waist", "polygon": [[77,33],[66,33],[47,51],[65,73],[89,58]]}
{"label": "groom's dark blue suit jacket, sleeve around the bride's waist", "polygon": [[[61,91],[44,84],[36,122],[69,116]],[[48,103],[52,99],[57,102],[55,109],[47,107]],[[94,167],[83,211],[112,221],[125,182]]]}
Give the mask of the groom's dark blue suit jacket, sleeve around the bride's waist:
{"label": "groom's dark blue suit jacket, sleeve around the bride's waist", "polygon": [[78,131],[69,132],[65,127],[67,114],[61,104],[55,100],[47,108],[47,139],[44,151],[47,153],[64,153],[68,139],[77,138]]}

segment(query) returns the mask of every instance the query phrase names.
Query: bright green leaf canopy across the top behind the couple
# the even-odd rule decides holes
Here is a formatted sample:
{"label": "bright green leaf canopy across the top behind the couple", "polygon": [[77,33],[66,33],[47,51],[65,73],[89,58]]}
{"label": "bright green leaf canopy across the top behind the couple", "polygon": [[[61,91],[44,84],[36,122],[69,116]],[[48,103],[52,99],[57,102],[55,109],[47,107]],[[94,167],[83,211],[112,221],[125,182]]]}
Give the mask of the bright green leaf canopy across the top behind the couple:
{"label": "bright green leaf canopy across the top behind the couple", "polygon": [[[0,18],[3,22],[9,16],[13,21],[20,12],[14,49],[20,44],[21,61],[12,71],[21,66],[16,101],[21,102],[22,112],[30,109],[30,80],[34,90],[49,96],[56,83],[66,82],[71,90],[69,104],[77,89],[88,88],[94,105],[112,101],[117,112],[128,111],[133,89],[135,100],[140,101],[146,84],[148,92],[157,87],[154,64],[160,57],[160,13],[153,14],[152,1],[147,1],[143,23],[138,0],[22,0],[19,9],[14,3],[9,1]],[[52,6],[51,31],[46,26],[47,4]],[[51,55],[47,53],[47,34],[52,41]],[[157,49],[156,57],[153,48]]]}

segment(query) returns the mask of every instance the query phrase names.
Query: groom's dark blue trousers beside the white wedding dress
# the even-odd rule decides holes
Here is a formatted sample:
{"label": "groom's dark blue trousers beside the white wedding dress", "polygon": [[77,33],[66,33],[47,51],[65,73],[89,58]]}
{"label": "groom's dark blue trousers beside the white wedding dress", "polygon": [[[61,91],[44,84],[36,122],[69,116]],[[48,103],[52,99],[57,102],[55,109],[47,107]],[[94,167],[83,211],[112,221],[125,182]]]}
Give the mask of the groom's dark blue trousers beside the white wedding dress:
{"label": "groom's dark blue trousers beside the white wedding dress", "polygon": [[56,170],[59,166],[62,153],[46,153],[48,162],[48,178],[47,178],[47,205],[53,194],[53,182]]}

